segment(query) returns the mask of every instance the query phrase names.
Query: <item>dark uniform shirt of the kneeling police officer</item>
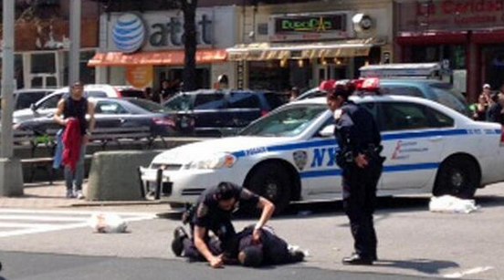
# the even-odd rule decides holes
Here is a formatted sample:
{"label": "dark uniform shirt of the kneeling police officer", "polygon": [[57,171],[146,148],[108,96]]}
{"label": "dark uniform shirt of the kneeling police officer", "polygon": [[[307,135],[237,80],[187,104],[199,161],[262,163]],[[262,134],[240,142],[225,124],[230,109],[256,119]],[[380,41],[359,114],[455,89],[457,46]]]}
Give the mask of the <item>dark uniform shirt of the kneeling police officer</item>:
{"label": "dark uniform shirt of the kneeling police officer", "polygon": [[[215,199],[216,192],[217,186],[214,186],[206,189],[199,197],[196,205],[196,213],[193,217],[193,223],[195,225],[211,229],[215,223],[231,220],[231,213],[236,210],[236,207],[230,211],[219,208],[219,202]],[[236,202],[239,203],[236,204],[236,206],[239,205],[241,208],[255,207],[259,202],[259,196],[257,196],[257,194],[243,187],[233,185],[233,192],[233,197],[236,199]]]}

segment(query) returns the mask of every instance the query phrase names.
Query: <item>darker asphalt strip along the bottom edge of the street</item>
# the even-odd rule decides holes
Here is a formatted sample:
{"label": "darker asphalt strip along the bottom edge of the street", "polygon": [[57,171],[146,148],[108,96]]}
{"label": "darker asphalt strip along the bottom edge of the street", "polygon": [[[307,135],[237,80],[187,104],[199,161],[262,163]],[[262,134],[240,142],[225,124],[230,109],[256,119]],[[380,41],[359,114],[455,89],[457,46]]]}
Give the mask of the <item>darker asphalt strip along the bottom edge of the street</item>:
{"label": "darker asphalt strip along the bottom edge of the street", "polygon": [[[3,279],[17,280],[112,280],[112,279],[419,279],[417,276],[377,275],[372,273],[340,272],[310,267],[308,265],[284,265],[252,269],[240,266],[227,266],[224,269],[211,269],[206,264],[188,264],[183,261],[89,257],[62,254],[2,253],[5,259]],[[0,278],[2,279],[2,278]]]}

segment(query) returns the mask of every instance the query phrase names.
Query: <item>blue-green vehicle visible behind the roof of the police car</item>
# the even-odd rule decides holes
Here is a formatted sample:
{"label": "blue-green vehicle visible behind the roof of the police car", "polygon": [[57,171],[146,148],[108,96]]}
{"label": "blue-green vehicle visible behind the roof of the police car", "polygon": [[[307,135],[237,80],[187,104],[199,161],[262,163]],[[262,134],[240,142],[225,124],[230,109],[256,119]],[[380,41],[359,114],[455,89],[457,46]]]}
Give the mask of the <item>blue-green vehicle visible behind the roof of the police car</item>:
{"label": "blue-green vehicle visible behind the roof of the police car", "polygon": [[[380,80],[380,92],[384,95],[404,95],[431,99],[458,112],[471,116],[464,96],[451,84],[435,79],[390,78]],[[311,88],[302,93],[297,100],[325,97],[319,88]]]}

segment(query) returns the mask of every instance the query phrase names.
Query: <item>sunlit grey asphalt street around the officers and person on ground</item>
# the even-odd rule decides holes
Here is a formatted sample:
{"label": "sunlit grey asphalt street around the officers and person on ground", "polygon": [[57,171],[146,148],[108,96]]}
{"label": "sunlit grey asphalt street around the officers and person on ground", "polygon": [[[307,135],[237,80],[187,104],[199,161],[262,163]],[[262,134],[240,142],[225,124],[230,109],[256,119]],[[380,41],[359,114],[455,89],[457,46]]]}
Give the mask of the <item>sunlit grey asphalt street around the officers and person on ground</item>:
{"label": "sunlit grey asphalt street around the officers and person on ground", "polygon": [[[380,200],[375,214],[379,262],[346,266],[352,252],[340,202],[299,204],[270,224],[290,244],[308,250],[306,262],[265,269],[187,264],[170,250],[178,219],[129,223],[129,233],[93,233],[85,224],[47,232],[0,234],[5,279],[504,279],[504,183],[478,191],[475,213],[430,213],[428,196]],[[102,212],[160,213],[167,206],[101,207]],[[160,208],[161,207],[161,208]],[[81,216],[83,209],[75,209]],[[40,213],[42,214],[42,213]],[[77,213],[76,213],[77,216]],[[16,217],[13,217],[15,219]],[[0,215],[1,219],[1,215]],[[254,223],[240,217],[236,229]],[[63,223],[63,222],[58,222]],[[80,223],[80,222],[79,222]],[[40,254],[43,253],[43,254]],[[68,254],[68,255],[66,255]]]}

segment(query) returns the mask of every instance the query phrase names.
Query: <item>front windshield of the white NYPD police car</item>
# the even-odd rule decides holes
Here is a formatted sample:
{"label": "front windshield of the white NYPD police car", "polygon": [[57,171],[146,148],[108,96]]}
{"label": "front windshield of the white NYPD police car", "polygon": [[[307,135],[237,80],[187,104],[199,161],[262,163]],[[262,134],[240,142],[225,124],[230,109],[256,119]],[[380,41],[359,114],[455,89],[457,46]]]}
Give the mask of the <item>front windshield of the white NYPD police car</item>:
{"label": "front windshield of the white NYPD police car", "polygon": [[263,137],[297,136],[327,110],[325,105],[294,105],[288,106],[258,119],[242,130],[239,135]]}

